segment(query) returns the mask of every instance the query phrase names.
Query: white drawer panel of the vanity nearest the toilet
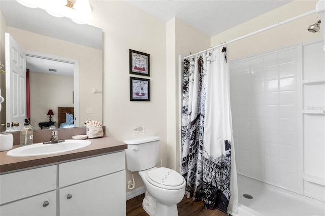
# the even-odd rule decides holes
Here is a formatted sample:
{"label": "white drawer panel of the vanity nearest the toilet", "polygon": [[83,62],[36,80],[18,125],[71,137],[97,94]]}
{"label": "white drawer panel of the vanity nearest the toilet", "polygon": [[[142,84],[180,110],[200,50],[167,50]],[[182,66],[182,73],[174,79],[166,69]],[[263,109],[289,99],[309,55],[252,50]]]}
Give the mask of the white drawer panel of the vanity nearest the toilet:
{"label": "white drawer panel of the vanity nearest the toilet", "polygon": [[124,151],[59,164],[59,187],[125,169]]}

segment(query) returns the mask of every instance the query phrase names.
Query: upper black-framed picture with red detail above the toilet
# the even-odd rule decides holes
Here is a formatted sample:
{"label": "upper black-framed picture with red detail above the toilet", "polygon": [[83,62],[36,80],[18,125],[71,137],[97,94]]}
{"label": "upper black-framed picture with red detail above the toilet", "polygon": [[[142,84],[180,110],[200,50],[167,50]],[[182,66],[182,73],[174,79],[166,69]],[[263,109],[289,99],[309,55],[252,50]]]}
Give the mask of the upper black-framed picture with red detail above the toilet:
{"label": "upper black-framed picture with red detail above the toilet", "polygon": [[150,76],[150,55],[135,50],[129,51],[130,74]]}

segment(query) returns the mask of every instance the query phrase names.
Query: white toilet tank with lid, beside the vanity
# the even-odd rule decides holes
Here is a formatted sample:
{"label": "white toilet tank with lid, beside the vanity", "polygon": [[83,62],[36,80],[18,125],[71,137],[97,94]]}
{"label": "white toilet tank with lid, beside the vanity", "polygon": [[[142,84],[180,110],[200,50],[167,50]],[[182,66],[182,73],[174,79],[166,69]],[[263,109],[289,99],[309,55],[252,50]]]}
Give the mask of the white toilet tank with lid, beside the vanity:
{"label": "white toilet tank with lid, beside the vanity", "polygon": [[130,171],[141,171],[154,167],[158,159],[159,136],[126,139],[126,165]]}

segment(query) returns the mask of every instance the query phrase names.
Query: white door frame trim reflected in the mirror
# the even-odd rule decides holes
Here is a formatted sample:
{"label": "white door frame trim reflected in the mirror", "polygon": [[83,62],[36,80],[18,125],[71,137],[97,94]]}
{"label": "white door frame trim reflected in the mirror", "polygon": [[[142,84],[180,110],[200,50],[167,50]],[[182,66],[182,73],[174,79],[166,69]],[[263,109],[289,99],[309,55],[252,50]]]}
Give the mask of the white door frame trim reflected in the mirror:
{"label": "white door frame trim reflected in the mirror", "polygon": [[66,58],[62,56],[55,56],[55,55],[50,55],[46,53],[39,53],[39,52],[34,52],[34,51],[29,51],[29,50],[24,50],[26,56],[32,56],[32,57],[37,57],[37,58],[44,58],[44,59],[50,59],[50,60],[55,60],[55,61],[61,61],[61,62],[67,62],[74,64],[74,121],[75,121],[75,127],[79,127],[79,60],[73,59],[73,58]]}

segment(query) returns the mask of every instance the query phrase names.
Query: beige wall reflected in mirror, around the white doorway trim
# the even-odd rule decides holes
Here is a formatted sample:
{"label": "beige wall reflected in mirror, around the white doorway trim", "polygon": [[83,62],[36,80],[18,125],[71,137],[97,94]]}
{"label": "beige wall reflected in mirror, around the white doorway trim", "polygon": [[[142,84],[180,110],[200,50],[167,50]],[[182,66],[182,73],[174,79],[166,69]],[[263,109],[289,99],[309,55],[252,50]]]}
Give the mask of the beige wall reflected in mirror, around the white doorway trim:
{"label": "beige wall reflected in mirror, around the white doorway trim", "polygon": [[[102,94],[91,92],[91,88],[102,90],[101,50],[12,27],[8,32],[24,50],[79,60],[79,124],[102,120]],[[87,107],[93,108],[93,114],[86,114]]]}

